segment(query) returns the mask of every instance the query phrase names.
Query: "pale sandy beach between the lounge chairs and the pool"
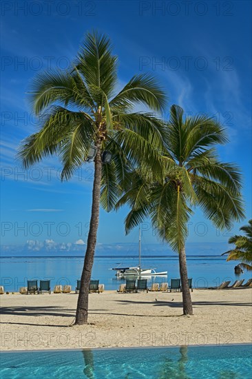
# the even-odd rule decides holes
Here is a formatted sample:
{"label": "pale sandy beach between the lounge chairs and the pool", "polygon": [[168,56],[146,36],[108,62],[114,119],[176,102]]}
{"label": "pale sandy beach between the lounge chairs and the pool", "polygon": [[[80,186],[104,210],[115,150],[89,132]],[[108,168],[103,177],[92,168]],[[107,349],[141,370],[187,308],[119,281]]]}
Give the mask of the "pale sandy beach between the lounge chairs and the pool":
{"label": "pale sandy beach between the lounge chairs and the pool", "polygon": [[1,349],[172,346],[252,341],[252,289],[90,294],[89,325],[70,326],[78,295],[1,295]]}

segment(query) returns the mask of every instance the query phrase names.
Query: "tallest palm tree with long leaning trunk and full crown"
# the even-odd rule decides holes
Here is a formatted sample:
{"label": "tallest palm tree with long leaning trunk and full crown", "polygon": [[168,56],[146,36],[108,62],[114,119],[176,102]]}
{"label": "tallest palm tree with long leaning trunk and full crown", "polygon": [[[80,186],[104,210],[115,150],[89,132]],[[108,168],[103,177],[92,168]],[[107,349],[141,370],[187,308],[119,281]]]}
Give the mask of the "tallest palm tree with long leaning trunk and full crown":
{"label": "tallest palm tree with long leaning trunk and full crown", "polygon": [[[99,203],[109,211],[127,182],[130,165],[143,171],[156,161],[164,145],[165,127],[151,113],[134,112],[136,105],[160,112],[166,96],[149,74],[134,76],[123,90],[117,84],[117,57],[103,34],[88,33],[69,70],[38,74],[31,85],[30,101],[41,121],[39,132],[28,136],[19,150],[23,167],[56,154],[62,163],[61,178],[68,180],[87,159],[94,145],[92,214],[76,309],[76,324],[87,323],[88,293]],[[112,163],[102,164],[103,153],[112,152]]]}

